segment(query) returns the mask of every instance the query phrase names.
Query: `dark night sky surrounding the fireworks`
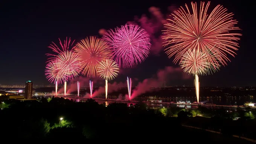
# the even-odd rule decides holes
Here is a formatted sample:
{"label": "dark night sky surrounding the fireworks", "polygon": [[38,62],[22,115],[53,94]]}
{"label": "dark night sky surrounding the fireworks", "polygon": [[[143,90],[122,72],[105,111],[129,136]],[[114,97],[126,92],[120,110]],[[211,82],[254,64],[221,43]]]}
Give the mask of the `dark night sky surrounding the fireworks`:
{"label": "dark night sky surrounding the fireworks", "polygon": [[[44,76],[47,46],[58,42],[58,38],[66,36],[76,39],[76,42],[87,36],[99,36],[99,29],[114,28],[127,21],[133,21],[134,16],[141,17],[148,12],[149,7],[160,8],[163,15],[169,6],[184,6],[188,0],[106,2],[90,1],[11,1],[0,2],[0,48],[1,71],[0,84],[24,84],[31,80],[34,84],[49,84]],[[200,1],[197,1],[200,2]],[[201,86],[256,86],[255,66],[255,9],[252,2],[221,0],[211,2],[209,10],[221,4],[228,12],[235,14],[239,21],[238,27],[243,36],[239,41],[239,51],[232,62],[221,67],[221,71],[200,77]],[[174,66],[172,59],[168,59],[163,49],[159,54],[151,54],[145,62],[138,65],[128,74],[120,75],[116,81],[125,81],[128,75],[140,81],[150,78],[158,69]],[[193,86],[193,80],[168,81],[169,85],[186,84]]]}

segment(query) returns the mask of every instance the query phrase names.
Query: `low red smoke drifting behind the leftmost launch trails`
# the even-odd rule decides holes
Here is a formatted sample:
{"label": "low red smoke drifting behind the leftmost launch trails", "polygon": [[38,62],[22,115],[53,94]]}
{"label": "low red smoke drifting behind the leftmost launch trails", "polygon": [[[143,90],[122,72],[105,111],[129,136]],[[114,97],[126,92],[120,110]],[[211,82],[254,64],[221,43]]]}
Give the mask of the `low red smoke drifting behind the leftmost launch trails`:
{"label": "low red smoke drifting behind the leftmost launch trails", "polygon": [[[80,88],[83,86],[89,87],[89,81],[93,81],[94,83],[97,83],[100,81],[100,78],[86,78],[86,77],[78,77],[76,79],[72,79],[69,82],[67,82],[67,94],[76,92],[77,91],[77,81],[80,82]],[[54,93],[54,92],[53,92]],[[58,93],[64,93],[64,87],[61,87],[61,89],[58,90]]]}

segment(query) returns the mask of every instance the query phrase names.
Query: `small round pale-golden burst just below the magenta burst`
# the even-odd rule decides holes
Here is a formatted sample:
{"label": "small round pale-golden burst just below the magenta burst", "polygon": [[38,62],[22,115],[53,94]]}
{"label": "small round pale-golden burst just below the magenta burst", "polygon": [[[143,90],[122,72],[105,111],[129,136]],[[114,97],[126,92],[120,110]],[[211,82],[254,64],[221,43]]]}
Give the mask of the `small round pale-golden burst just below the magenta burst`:
{"label": "small round pale-golden burst just below the magenta burst", "polygon": [[99,63],[99,76],[104,80],[113,80],[119,73],[119,67],[113,60],[104,60]]}

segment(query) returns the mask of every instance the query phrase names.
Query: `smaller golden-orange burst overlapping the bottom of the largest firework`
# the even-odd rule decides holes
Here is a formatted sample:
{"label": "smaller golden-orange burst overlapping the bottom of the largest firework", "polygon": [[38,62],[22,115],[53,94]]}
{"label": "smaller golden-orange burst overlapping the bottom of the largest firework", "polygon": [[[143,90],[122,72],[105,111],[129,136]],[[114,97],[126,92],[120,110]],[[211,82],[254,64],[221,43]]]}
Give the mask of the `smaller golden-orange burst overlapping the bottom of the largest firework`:
{"label": "smaller golden-orange burst overlapping the bottom of the largest firework", "polygon": [[219,59],[213,52],[204,53],[194,49],[182,55],[180,66],[188,74],[207,75],[219,70]]}

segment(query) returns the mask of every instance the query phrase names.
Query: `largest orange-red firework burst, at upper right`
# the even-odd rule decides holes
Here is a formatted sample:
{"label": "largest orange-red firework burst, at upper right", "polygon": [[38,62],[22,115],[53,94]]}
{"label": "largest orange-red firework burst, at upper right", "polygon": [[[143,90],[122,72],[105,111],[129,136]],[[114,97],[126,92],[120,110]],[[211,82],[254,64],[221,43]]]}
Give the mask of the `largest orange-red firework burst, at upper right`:
{"label": "largest orange-red firework burst, at upper right", "polygon": [[171,23],[165,24],[164,46],[174,44],[166,48],[166,53],[169,57],[175,56],[174,62],[177,63],[189,49],[198,49],[204,53],[210,50],[219,55],[222,65],[226,65],[226,61],[230,61],[227,54],[234,56],[234,51],[239,47],[237,36],[241,36],[239,33],[230,33],[231,30],[239,30],[234,26],[238,22],[232,20],[233,13],[227,13],[226,8],[218,5],[207,15],[210,2],[207,5],[201,2],[199,11],[197,3],[191,2],[191,5],[192,13],[187,5],[186,9],[180,7],[171,15],[172,20],[168,19]]}

